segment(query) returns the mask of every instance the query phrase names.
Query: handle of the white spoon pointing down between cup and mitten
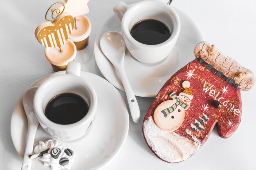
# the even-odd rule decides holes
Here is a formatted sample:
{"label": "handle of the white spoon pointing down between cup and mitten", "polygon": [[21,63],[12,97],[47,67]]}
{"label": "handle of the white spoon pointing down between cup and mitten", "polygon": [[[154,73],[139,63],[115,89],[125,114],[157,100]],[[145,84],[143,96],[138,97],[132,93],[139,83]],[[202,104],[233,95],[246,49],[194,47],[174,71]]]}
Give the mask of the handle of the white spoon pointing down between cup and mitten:
{"label": "handle of the white spoon pointing down between cup and mitten", "polygon": [[132,91],[132,87],[130,86],[124,67],[119,67],[117,70],[119,72],[121,82],[123,83],[123,86],[124,86],[124,90],[125,90],[129,108],[130,108],[130,113],[132,115],[132,120],[135,123],[138,123],[140,119],[140,110],[139,110],[137,99]]}

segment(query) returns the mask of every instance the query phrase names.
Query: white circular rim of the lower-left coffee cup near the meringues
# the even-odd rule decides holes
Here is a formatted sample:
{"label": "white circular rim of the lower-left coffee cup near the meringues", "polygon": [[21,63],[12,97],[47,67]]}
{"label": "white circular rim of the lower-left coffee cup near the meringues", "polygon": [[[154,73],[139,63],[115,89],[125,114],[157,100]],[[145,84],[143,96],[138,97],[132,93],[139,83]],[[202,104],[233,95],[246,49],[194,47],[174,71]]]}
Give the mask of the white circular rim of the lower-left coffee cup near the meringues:
{"label": "white circular rim of the lower-left coffee cup near the meringues", "polygon": [[[39,103],[38,100],[40,101],[41,94],[44,93],[43,88],[51,84],[53,79],[65,79],[65,81],[67,82],[69,82],[70,79],[76,79],[83,84],[83,87],[88,89],[87,91],[89,93],[89,98],[92,104],[88,110],[88,113],[85,115],[85,117],[83,117],[81,120],[73,124],[63,125],[63,124],[56,124],[53,121],[50,121],[45,116],[45,110],[42,109],[42,103]],[[85,123],[88,122],[88,120],[92,120],[92,118],[96,114],[97,105],[98,105],[97,94],[94,88],[92,87],[92,85],[90,85],[90,83],[88,83],[85,79],[76,75],[71,75],[71,74],[54,75],[53,77],[50,77],[49,79],[45,80],[37,88],[36,93],[34,95],[34,99],[33,99],[34,112],[36,117],[38,118],[39,123],[42,122],[45,126],[52,128],[54,130],[60,130],[60,131],[65,131],[65,130],[68,131],[71,129],[81,128]]]}

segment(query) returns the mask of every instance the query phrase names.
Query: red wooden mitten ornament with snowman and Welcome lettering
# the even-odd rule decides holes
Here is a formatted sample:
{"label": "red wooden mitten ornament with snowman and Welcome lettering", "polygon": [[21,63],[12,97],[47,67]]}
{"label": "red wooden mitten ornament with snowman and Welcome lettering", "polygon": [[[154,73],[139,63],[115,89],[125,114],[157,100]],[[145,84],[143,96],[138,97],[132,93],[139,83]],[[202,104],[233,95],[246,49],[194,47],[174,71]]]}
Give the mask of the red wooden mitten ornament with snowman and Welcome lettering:
{"label": "red wooden mitten ornament with snowman and Welcome lettering", "polygon": [[146,143],[169,163],[193,155],[216,123],[220,137],[231,136],[241,119],[240,90],[255,82],[251,71],[207,42],[199,43],[194,54],[196,59],[164,84],[144,119]]}

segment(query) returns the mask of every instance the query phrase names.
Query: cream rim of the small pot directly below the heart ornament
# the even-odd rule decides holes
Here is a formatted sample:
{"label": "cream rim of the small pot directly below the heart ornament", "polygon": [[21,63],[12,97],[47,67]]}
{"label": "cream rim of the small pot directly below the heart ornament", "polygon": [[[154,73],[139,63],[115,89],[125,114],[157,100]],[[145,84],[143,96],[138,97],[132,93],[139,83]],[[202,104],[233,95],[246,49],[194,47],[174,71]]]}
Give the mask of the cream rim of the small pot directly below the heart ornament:
{"label": "cream rim of the small pot directly below the heart ornament", "polygon": [[50,57],[47,56],[47,51],[49,51],[50,49],[52,49],[52,47],[45,47],[45,57],[46,59],[51,63],[54,64],[55,66],[65,66],[68,64],[68,62],[71,62],[75,59],[76,57],[76,45],[74,44],[74,42],[72,42],[70,39],[67,39],[67,41],[65,43],[69,43],[72,45],[73,49],[74,49],[74,53],[70,56],[70,58],[68,58],[67,60],[64,60],[62,62],[54,62],[51,60]]}

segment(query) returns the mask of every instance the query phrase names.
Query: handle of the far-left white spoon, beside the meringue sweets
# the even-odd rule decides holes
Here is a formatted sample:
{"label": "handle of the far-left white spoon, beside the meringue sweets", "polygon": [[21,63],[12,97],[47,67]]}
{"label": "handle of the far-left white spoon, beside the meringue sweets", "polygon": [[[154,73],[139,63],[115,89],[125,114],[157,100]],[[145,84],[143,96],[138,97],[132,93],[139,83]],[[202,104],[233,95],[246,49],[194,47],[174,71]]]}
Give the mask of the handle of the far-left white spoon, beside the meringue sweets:
{"label": "handle of the far-left white spoon, beside the meringue sweets", "polygon": [[27,133],[27,145],[23,156],[23,162],[21,170],[31,170],[31,159],[29,155],[33,152],[34,139],[36,136],[37,126],[34,124],[29,125]]}

